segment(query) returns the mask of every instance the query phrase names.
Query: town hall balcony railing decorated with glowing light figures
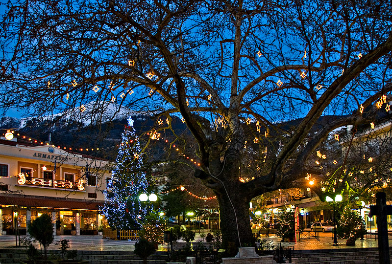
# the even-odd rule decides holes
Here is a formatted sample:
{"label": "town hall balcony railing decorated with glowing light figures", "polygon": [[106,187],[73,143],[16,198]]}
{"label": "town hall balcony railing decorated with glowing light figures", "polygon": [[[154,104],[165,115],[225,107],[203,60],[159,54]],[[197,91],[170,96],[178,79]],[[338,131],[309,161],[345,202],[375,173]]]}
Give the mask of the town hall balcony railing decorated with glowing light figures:
{"label": "town hall balcony railing decorated with glowing light figures", "polygon": [[77,181],[57,180],[57,179],[43,179],[26,176],[24,173],[18,174],[19,185],[34,185],[59,189],[70,189],[84,191],[85,182],[83,179]]}

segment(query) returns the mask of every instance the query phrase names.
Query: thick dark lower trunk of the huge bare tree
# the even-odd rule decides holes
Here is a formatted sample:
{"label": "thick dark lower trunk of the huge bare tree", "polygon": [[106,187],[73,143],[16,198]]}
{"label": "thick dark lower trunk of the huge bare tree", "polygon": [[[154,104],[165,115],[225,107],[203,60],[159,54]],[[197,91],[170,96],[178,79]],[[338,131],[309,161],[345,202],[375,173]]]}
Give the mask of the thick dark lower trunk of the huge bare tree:
{"label": "thick dark lower trunk of the huge bare tree", "polygon": [[222,248],[227,248],[229,243],[236,247],[254,246],[254,239],[249,220],[249,199],[238,188],[227,188],[230,199],[226,193],[217,194],[221,211]]}

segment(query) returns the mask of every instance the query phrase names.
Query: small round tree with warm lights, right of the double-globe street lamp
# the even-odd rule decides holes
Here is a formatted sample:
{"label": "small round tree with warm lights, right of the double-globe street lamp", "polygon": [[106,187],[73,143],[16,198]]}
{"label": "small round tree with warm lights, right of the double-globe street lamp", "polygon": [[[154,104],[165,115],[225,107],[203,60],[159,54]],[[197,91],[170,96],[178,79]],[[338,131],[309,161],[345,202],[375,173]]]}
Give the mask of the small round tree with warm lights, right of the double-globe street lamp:
{"label": "small round tree with warm lights, right of the double-globe street lamp", "polygon": [[365,234],[361,215],[349,207],[344,208],[339,220],[338,235],[346,240],[346,245],[355,245],[355,241]]}

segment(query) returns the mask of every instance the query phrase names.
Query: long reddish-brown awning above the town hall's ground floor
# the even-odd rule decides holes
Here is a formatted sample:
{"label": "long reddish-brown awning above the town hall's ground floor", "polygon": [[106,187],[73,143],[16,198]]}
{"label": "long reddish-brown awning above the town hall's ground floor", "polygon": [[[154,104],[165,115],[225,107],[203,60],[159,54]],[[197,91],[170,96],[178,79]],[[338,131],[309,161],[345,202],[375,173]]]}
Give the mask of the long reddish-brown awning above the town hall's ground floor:
{"label": "long reddish-brown awning above the town hall's ground floor", "polygon": [[52,209],[99,210],[98,207],[103,206],[103,202],[90,202],[68,198],[32,197],[24,195],[0,195],[0,205]]}

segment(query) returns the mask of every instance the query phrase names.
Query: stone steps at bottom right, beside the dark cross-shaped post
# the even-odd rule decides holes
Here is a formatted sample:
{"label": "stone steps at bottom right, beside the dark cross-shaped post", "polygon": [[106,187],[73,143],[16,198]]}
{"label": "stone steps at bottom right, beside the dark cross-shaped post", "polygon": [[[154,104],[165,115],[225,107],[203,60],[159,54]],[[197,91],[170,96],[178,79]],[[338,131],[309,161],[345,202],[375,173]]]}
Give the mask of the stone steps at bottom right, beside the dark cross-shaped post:
{"label": "stone steps at bottom right, beside the dark cross-shaped post", "polygon": [[[390,249],[390,257],[392,250]],[[391,258],[392,260],[392,258]],[[378,264],[378,248],[295,250],[296,264]]]}

